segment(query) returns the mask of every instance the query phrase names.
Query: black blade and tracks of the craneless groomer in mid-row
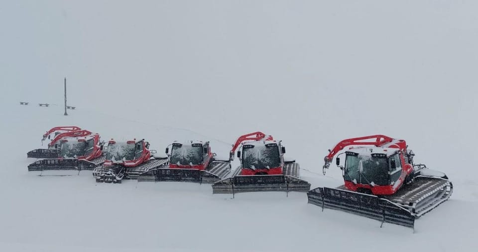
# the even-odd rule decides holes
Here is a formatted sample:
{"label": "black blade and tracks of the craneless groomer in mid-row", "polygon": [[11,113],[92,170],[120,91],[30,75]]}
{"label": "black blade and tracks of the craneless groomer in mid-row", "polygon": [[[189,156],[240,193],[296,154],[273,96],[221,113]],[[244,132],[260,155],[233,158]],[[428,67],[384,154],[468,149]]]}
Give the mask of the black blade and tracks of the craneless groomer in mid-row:
{"label": "black blade and tracks of the craneless groomer in mid-row", "polygon": [[212,184],[223,179],[230,171],[229,162],[213,162],[211,167],[201,171],[197,169],[171,169],[159,167],[138,177],[138,182],[192,182]]}

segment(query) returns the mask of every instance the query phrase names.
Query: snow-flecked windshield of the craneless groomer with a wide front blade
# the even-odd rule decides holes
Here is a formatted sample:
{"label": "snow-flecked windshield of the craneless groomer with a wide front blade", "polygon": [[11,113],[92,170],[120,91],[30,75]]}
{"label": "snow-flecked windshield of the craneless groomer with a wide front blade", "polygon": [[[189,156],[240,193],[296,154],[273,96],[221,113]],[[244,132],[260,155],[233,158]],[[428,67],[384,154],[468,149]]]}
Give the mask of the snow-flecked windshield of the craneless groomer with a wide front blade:
{"label": "snow-flecked windshield of the craneless groomer with a wide front blade", "polygon": [[173,145],[171,149],[171,164],[200,165],[203,163],[202,145]]}

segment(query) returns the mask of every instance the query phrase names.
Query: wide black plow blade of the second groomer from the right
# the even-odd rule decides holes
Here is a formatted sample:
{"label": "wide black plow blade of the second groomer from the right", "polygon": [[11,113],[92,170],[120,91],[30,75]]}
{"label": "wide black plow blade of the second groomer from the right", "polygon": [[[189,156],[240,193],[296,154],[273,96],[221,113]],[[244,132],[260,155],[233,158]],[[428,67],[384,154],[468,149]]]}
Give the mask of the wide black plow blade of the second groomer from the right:
{"label": "wide black plow blade of the second groomer from the right", "polygon": [[310,190],[307,181],[293,176],[284,175],[253,175],[234,176],[218,181],[212,185],[213,194],[217,193],[239,193],[252,191],[301,191]]}

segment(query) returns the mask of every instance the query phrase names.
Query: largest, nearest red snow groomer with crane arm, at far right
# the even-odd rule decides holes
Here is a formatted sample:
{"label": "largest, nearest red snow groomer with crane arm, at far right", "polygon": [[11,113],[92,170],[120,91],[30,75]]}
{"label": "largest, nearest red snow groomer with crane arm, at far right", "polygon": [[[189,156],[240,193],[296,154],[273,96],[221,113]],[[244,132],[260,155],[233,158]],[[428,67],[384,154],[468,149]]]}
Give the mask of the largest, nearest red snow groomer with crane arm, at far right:
{"label": "largest, nearest red snow groomer with crane arm, at far right", "polygon": [[[345,152],[338,154],[345,147]],[[413,163],[406,141],[370,135],[339,142],[324,158],[323,173],[335,155],[344,185],[316,188],[309,203],[342,210],[383,222],[414,227],[415,219],[446,201],[453,192],[448,177]],[[338,156],[345,154],[345,164]]]}

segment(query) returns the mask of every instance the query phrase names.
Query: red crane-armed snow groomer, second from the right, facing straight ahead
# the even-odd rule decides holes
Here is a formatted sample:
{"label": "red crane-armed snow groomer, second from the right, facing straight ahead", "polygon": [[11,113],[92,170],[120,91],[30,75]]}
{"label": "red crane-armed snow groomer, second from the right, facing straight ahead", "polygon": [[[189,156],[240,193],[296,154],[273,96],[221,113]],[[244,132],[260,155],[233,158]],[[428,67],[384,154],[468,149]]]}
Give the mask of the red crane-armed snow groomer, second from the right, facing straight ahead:
{"label": "red crane-armed snow groomer, second from the right, facing straight ahead", "polygon": [[214,183],[213,193],[310,190],[310,184],[299,178],[299,164],[284,160],[285,147],[272,136],[259,131],[240,136],[230,152],[230,161],[236,150],[240,167],[232,177]]}

